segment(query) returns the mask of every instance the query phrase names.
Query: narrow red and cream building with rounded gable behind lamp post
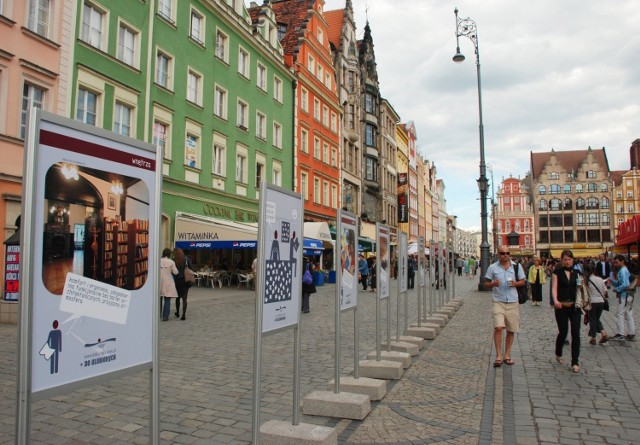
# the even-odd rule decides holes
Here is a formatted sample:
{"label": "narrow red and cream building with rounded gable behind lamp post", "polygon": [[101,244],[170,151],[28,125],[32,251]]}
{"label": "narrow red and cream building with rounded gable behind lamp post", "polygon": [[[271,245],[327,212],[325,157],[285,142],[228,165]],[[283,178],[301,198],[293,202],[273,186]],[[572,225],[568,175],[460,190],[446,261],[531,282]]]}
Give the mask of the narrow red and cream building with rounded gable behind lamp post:
{"label": "narrow red and cream building with rounded gable behind lamp post", "polygon": [[[524,186],[524,187],[523,187]],[[510,177],[498,188],[495,207],[496,241],[509,246],[512,257],[532,256],[535,249],[535,224],[526,184]],[[517,243],[513,243],[517,240]]]}

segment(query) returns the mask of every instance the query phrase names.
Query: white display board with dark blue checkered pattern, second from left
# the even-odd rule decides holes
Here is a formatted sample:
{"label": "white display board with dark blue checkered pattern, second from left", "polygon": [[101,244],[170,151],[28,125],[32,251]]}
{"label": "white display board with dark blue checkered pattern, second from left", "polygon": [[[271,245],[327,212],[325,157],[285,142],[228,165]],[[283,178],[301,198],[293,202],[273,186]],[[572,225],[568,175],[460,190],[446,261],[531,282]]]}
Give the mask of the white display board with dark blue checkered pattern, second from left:
{"label": "white display board with dark blue checkered pattern, second from left", "polygon": [[300,195],[267,185],[260,208],[258,267],[262,290],[262,333],[297,326],[302,289],[303,213]]}

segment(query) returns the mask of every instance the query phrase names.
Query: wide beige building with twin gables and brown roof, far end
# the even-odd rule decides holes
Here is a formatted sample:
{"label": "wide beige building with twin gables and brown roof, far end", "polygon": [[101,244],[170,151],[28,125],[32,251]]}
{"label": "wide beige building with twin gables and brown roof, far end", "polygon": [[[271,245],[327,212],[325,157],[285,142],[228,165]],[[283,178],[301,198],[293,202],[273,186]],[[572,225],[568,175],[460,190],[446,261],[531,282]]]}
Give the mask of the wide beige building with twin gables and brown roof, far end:
{"label": "wide beige building with twin gables and brown roof, far end", "polygon": [[531,153],[536,250],[559,258],[597,256],[613,244],[612,190],[605,149]]}

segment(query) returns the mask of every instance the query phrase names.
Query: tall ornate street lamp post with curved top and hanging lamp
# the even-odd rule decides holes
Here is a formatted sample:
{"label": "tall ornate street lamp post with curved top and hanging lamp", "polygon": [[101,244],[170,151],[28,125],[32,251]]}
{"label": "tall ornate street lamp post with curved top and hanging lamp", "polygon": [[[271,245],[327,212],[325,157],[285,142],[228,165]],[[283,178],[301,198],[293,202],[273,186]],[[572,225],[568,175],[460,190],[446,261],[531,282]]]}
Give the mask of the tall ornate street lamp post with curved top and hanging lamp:
{"label": "tall ornate street lamp post with curved top and hanging lamp", "polygon": [[480,177],[478,178],[478,189],[480,190],[480,221],[482,227],[482,242],[480,243],[480,278],[478,281],[478,290],[486,290],[482,285],[484,275],[489,268],[489,241],[487,237],[487,167],[484,162],[484,125],[482,124],[482,87],[480,81],[480,51],[478,49],[478,33],[476,22],[470,18],[459,19],[458,8],[454,10],[456,15],[456,54],[453,61],[460,63],[464,61],[464,55],[460,52],[460,36],[468,37],[476,50],[476,72],[478,74],[478,114],[480,116]]}

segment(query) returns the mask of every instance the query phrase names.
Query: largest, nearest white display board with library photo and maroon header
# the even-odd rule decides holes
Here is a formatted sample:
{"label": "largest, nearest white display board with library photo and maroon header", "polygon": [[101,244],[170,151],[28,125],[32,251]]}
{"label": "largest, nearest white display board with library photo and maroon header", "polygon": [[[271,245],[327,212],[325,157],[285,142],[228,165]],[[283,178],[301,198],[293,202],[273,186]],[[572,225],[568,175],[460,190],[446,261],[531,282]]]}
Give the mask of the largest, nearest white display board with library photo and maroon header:
{"label": "largest, nearest white display board with library photo and maroon header", "polygon": [[[159,230],[155,148],[41,113],[30,128],[35,168],[31,392],[152,366]],[[27,165],[25,168],[29,168]],[[29,176],[29,175],[27,175]],[[75,229],[75,230],[74,230]]]}

